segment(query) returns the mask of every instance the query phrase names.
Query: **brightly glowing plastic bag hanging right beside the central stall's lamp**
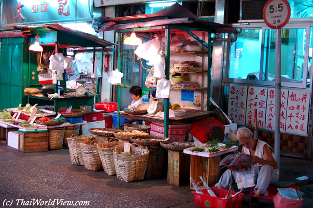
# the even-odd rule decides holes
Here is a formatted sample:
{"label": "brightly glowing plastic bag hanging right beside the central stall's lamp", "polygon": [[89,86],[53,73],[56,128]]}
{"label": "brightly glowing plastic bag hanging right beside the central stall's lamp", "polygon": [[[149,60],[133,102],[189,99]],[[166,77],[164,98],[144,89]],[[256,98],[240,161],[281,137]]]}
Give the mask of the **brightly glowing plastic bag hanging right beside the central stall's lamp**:
{"label": "brightly glowing plastic bag hanging right beside the central stall's lamp", "polygon": [[135,50],[135,54],[147,61],[153,60],[156,54],[164,48],[164,42],[159,40],[157,35],[155,37],[156,38],[151,41],[138,45]]}

